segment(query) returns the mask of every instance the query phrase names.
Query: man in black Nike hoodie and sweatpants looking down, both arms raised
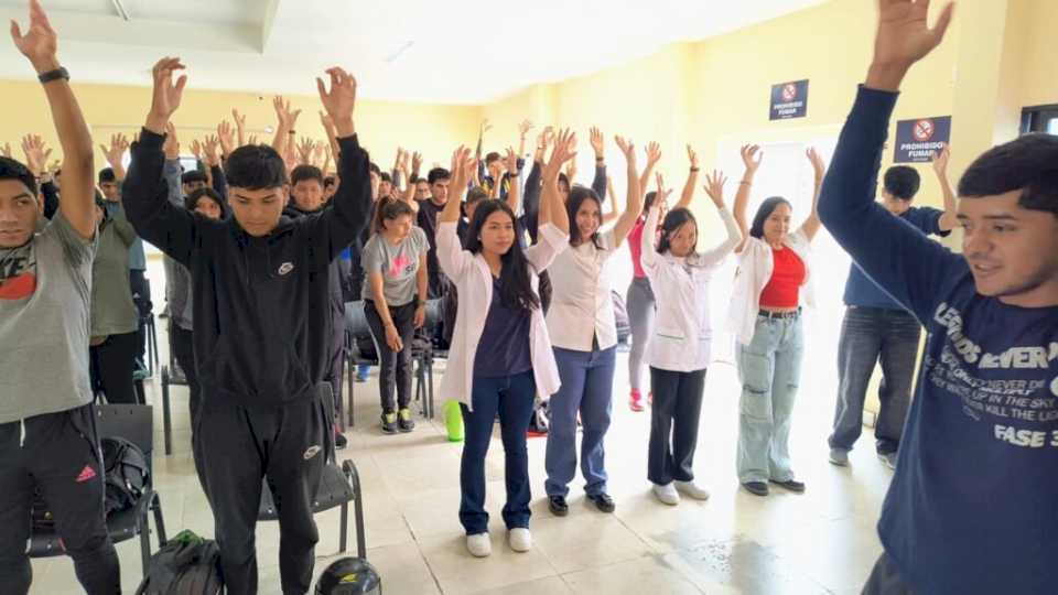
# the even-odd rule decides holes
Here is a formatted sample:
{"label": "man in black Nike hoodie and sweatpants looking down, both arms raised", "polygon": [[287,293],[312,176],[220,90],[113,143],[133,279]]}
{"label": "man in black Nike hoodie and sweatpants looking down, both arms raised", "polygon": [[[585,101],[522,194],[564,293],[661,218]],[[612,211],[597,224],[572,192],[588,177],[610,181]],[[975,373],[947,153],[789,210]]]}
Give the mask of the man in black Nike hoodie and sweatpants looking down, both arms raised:
{"label": "man in black Nike hoodie and sweatpants looking down, both arms raised", "polygon": [[140,235],[187,267],[194,300],[194,351],[202,411],[195,463],[216,522],[229,594],[257,592],[255,527],[261,479],[274,495],[283,593],[305,593],[319,539],[311,502],[323,473],[333,413],[322,396],[332,356],[331,261],[367,221],[368,155],[353,125],[356,83],[327,71],[320,98],[335,122],[342,186],[317,216],[282,218],[282,158],[241,147],[225,164],[234,217],[215,221],[166,199],[165,125],[180,105],[184,66],[163,58],[153,71],[151,111],[132,147],[125,186]]}

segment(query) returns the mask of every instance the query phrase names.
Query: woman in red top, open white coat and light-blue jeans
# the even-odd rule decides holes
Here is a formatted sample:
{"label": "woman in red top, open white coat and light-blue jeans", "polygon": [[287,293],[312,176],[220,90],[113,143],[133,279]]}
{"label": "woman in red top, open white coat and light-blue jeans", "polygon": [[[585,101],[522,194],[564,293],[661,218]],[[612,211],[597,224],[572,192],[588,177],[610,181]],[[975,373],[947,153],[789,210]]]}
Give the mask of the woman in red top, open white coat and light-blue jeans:
{"label": "woman in red top, open white coat and light-blue jeans", "polygon": [[742,381],[738,480],[751,494],[767,496],[769,483],[790,491],[805,491],[805,484],[794,476],[790,414],[803,355],[801,304],[811,305],[812,300],[807,285],[811,274],[807,260],[810,242],[820,228],[816,199],[825,165],[814,150],[808,151],[816,188],[811,213],[801,227],[790,230],[794,208],[779,196],[764,201],[753,225],[747,226],[746,203],[760,154],[756,147],[742,150],[746,172],[735,196],[734,216],[745,240],[735,249],[739,260],[732,311],[737,314],[732,318]]}

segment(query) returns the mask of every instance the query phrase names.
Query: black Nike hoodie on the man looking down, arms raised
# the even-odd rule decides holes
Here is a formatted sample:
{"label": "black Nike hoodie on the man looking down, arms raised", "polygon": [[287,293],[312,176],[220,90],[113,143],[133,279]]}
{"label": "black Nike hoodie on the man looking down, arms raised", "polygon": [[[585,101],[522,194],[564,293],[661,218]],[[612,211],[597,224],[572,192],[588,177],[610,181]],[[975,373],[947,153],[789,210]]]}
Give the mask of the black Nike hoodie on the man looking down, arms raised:
{"label": "black Nike hoodie on the man looking down, arms raised", "polygon": [[234,217],[214,221],[169,202],[163,141],[140,132],[122,199],[140,237],[191,271],[195,363],[206,398],[267,410],[313,397],[333,349],[330,264],[367,225],[367,152],[355,134],[338,139],[334,207],[283,217],[255,238]]}

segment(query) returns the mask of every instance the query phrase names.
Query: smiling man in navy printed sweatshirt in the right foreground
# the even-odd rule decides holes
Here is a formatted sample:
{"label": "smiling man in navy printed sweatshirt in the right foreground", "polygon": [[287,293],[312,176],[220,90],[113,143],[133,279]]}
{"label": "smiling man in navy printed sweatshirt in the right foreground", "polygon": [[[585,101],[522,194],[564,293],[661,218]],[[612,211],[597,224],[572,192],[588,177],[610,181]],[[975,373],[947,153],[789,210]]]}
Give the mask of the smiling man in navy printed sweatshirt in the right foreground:
{"label": "smiling man in navy printed sweatshirt in the right foreground", "polygon": [[864,593],[1055,593],[1058,138],[1022,137],[970,165],[961,255],[886,213],[873,194],[898,89],[952,7],[929,29],[927,0],[879,6],[819,215],[929,339]]}

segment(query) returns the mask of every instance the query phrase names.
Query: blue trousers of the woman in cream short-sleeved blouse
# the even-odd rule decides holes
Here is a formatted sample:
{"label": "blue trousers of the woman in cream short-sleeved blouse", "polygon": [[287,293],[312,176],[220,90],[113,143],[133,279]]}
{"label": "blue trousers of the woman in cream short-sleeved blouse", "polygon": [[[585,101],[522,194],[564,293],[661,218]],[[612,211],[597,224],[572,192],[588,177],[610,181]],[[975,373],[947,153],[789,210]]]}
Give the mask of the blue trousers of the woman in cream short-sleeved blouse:
{"label": "blue trousers of the woman in cream short-sleeved blouse", "polygon": [[576,475],[576,414],[581,414],[581,473],[590,496],[606,493],[603,439],[613,409],[617,347],[594,351],[554,348],[562,387],[551,396],[544,467],[548,496],[565,496]]}

